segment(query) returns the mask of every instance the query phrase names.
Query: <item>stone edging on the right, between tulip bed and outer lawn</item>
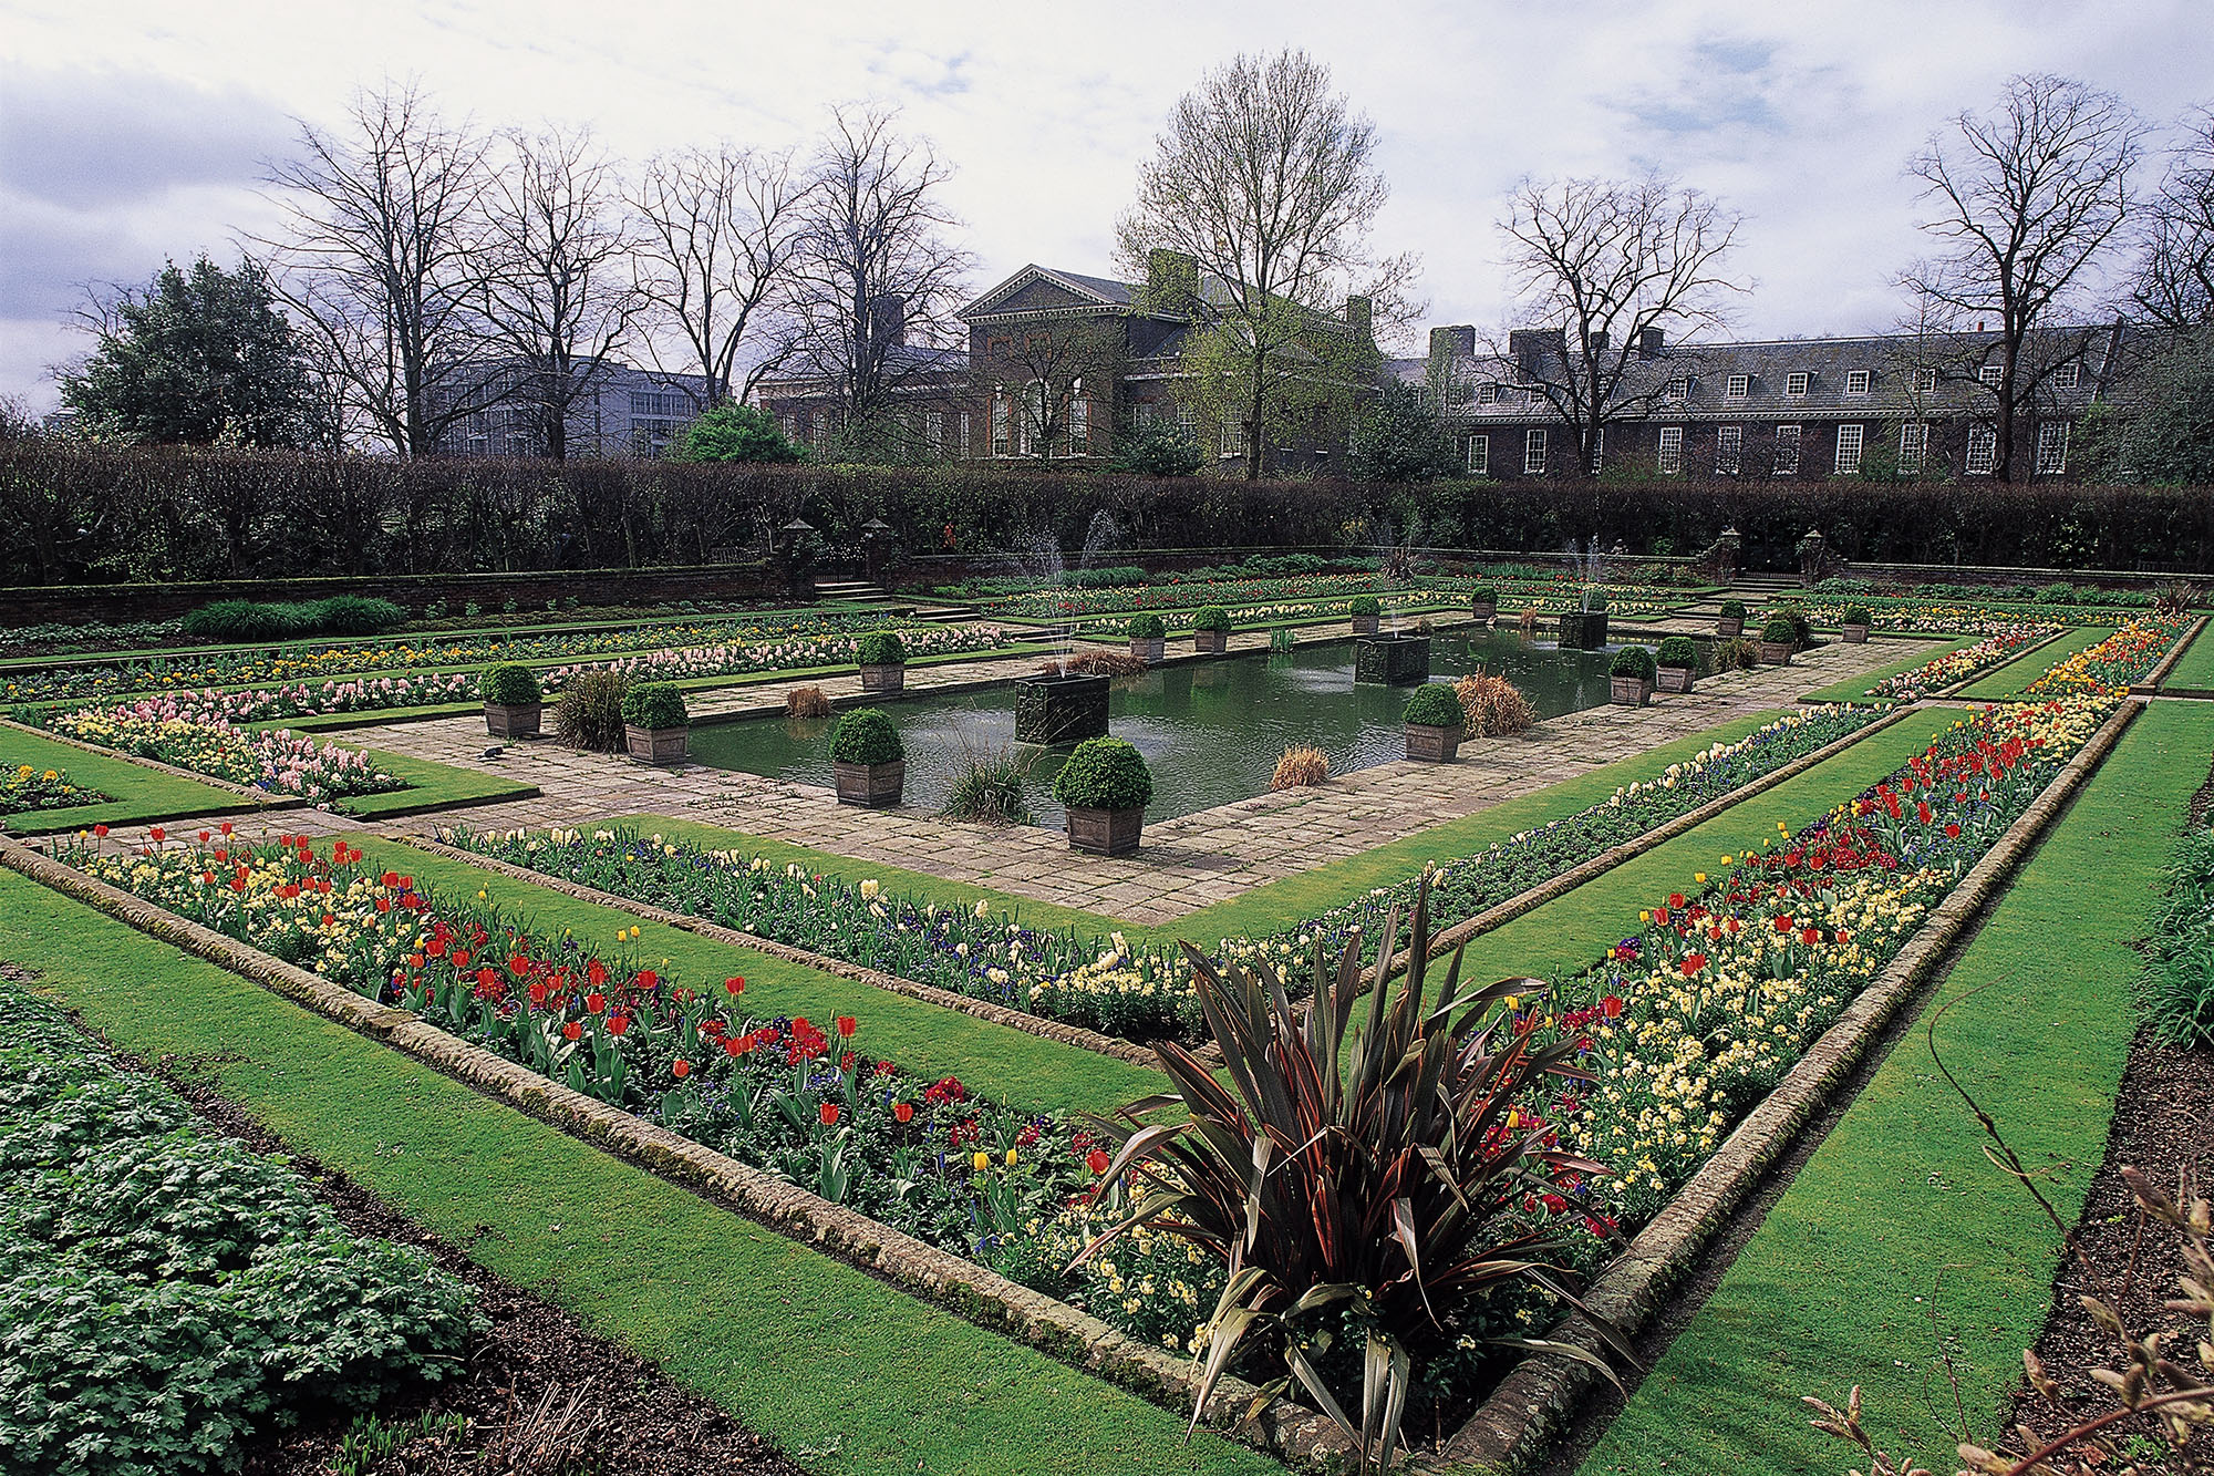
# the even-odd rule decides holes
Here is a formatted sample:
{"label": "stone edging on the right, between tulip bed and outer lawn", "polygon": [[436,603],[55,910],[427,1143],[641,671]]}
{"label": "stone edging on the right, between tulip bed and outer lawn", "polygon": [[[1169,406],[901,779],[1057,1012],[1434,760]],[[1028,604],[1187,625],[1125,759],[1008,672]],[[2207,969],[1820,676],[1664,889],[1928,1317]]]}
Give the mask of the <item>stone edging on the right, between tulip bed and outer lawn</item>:
{"label": "stone edging on the right, between tulip bed and outer lawn", "polygon": [[[1760,1181],[1767,1166],[1791,1144],[1815,1108],[1853,1070],[1882,1033],[1884,1022],[1911,1000],[1946,960],[1953,944],[1993,902],[2015,867],[2037,847],[2046,827],[2066,809],[2077,787],[2112,751],[2143,703],[2123,703],[2097,734],[2077,749],[2030,807],[1984,853],[1962,884],[1946,895],[1922,929],[1891,960],[1884,973],[1844,1008],[1844,1015],[1809,1046],[1784,1079],[1731,1130],[1720,1150],[1676,1190],[1667,1206],[1638,1232],[1614,1263],[1585,1290],[1585,1303],[1618,1330],[1636,1332],[1665,1301],[1667,1288],[1698,1259],[1707,1237]],[[1596,1332],[1572,1316],[1552,1334],[1563,1343],[1601,1352]],[[1539,1443],[1574,1410],[1596,1378],[1583,1363],[1525,1356],[1492,1390],[1446,1445],[1432,1469],[1510,1472],[1523,1467]]]}

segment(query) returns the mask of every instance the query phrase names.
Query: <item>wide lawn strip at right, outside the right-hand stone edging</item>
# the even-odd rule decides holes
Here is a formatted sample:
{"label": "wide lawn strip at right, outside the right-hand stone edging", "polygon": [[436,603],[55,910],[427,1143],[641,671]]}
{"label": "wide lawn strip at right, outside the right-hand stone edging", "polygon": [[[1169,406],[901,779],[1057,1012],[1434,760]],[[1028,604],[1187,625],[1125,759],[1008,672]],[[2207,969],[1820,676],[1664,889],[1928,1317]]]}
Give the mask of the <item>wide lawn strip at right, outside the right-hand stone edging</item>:
{"label": "wide lawn strip at right, outside the right-hand stone edging", "polygon": [[[1939,991],[1939,1050],[2075,1219],[2106,1148],[2134,1017],[2132,935],[2214,749],[2214,711],[2154,705],[1993,909]],[[1973,993],[1973,991],[1984,993]],[[1585,1476],[1842,1472],[1802,1394],[1842,1405],[1900,1456],[1953,1469],[1990,1443],[2050,1301],[2059,1239],[1984,1159],[1922,1026],[1769,1210],[1714,1296],[1630,1401]]]}

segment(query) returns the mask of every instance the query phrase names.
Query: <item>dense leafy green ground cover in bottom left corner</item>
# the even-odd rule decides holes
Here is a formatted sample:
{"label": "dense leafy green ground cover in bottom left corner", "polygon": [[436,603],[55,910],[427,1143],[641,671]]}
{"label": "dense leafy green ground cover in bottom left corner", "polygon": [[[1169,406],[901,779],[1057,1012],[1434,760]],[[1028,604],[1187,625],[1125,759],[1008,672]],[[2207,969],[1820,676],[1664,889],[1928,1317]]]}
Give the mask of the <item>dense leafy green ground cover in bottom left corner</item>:
{"label": "dense leafy green ground cover in bottom left corner", "polygon": [[228,1472],[257,1429],[458,1372],[467,1288],[4,975],[0,1101],[9,1469]]}

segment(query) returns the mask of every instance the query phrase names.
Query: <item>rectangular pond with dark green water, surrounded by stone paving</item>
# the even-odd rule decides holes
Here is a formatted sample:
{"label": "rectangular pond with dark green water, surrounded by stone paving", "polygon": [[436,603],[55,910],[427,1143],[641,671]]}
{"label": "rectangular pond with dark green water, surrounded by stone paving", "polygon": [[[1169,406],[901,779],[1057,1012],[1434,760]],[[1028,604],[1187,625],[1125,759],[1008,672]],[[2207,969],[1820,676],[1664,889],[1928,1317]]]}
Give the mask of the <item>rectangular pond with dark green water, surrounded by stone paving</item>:
{"label": "rectangular pond with dark green water, surrounded by stone paving", "polygon": [[[1452,680],[1479,667],[1506,676],[1539,718],[1607,700],[1610,652],[1563,652],[1552,640],[1514,632],[1439,634],[1430,640],[1430,680]],[[1275,760],[1293,742],[1331,758],[1331,773],[1351,773],[1406,756],[1410,687],[1353,680],[1353,643],[1300,647],[1269,656],[1153,667],[1111,685],[1107,731],[1127,738],[1153,769],[1149,820],[1189,816],[1269,791]],[[1038,822],[1058,829],[1063,811],[1052,782],[1069,749],[1014,742],[1014,689],[899,698],[883,705],[908,747],[903,804],[937,809],[968,754],[1010,749],[1027,765],[1027,791]],[[700,725],[691,758],[799,785],[830,787],[832,718],[748,718]]]}

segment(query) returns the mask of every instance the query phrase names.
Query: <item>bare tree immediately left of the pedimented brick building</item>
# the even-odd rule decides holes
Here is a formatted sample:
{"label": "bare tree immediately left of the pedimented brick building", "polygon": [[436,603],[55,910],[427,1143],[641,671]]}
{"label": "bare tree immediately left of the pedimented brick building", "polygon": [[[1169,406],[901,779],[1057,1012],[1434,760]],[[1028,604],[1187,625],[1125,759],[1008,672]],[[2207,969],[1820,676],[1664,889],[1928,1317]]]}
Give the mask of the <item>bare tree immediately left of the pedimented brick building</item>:
{"label": "bare tree immediately left of the pedimented brick building", "polygon": [[941,368],[970,255],[948,244],[952,173],[890,109],[832,109],[790,255],[793,363],[839,401],[846,434],[890,426],[903,390]]}

